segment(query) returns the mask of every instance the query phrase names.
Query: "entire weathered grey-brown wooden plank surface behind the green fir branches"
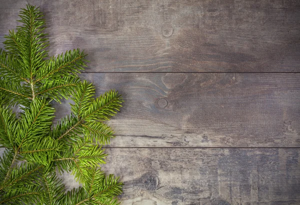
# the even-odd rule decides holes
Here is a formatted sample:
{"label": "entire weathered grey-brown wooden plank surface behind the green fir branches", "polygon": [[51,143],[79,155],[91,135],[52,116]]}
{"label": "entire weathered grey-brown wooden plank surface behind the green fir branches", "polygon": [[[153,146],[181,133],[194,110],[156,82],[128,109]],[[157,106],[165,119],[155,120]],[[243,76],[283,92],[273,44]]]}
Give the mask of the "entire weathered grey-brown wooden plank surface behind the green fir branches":
{"label": "entire weathered grey-brown wooden plank surface behind the green fir branches", "polygon": [[300,204],[299,0],[0,0],[0,47],[27,2],[50,54],[85,49],[81,77],[124,97],[121,205]]}

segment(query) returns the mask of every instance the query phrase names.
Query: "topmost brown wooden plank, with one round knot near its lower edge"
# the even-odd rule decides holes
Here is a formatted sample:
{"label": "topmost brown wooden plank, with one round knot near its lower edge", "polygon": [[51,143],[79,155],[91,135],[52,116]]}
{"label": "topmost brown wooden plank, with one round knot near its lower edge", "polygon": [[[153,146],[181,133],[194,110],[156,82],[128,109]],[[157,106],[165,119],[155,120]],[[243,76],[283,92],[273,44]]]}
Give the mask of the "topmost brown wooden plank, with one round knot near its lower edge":
{"label": "topmost brown wooden plank, with one round knot near its lower edge", "polygon": [[[0,0],[0,40],[25,0]],[[31,0],[50,54],[80,47],[88,71],[299,72],[299,0]],[[2,47],[2,44],[0,44]]]}

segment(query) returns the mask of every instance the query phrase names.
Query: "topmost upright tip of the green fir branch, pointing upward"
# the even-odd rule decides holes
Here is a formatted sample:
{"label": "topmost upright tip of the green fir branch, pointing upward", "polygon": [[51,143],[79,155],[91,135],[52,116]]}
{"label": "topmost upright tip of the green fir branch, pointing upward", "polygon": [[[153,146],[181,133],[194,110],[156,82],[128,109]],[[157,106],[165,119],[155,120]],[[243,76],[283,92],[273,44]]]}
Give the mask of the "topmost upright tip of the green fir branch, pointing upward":
{"label": "topmost upright tip of the green fir branch, pointing upward", "polygon": [[26,77],[29,82],[33,81],[37,68],[44,64],[42,59],[47,56],[44,50],[48,46],[46,34],[44,30],[44,20],[42,14],[35,6],[27,5],[26,9],[20,11],[18,20],[23,23],[17,26],[17,32],[9,32],[9,36],[5,36],[5,48],[19,57],[19,62],[25,70]]}

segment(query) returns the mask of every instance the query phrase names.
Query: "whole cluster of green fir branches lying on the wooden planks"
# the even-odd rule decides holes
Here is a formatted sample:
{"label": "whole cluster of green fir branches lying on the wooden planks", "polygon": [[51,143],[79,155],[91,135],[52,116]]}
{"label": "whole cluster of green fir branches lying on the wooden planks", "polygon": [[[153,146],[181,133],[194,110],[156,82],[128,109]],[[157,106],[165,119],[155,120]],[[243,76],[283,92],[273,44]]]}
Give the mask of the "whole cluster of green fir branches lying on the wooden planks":
{"label": "whole cluster of green fir branches lying on the wooden planks", "polygon": [[[106,157],[101,146],[114,137],[104,121],[119,111],[121,96],[111,90],[94,98],[94,86],[78,77],[83,51],[48,58],[38,7],[28,4],[19,16],[22,25],[0,49],[0,204],[118,204],[122,183],[99,165]],[[50,102],[62,98],[73,101],[71,114],[53,125]],[[56,170],[72,172],[82,187],[65,194]]]}

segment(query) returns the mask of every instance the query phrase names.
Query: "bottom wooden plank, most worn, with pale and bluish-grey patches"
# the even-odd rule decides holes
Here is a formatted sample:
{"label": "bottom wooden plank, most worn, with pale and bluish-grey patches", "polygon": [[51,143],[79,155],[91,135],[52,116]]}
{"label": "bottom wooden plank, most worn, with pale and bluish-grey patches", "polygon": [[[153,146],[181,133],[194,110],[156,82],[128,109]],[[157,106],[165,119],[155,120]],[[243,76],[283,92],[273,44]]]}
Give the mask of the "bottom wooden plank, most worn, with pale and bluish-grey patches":
{"label": "bottom wooden plank, most worn, with pale and bluish-grey patches", "polygon": [[298,205],[299,151],[110,148],[103,170],[121,176],[121,205]]}

